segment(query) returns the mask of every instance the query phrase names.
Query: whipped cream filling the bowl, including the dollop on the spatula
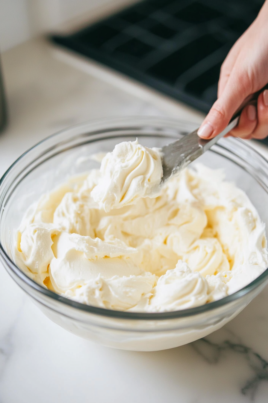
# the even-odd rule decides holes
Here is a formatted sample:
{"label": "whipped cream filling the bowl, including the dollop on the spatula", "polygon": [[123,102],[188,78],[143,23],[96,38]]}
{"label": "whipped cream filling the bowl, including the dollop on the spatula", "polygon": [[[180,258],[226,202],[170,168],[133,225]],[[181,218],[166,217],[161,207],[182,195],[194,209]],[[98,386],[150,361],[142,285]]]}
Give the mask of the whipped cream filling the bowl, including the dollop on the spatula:
{"label": "whipped cream filling the bowl, including the dollop on the spatula", "polygon": [[30,206],[18,266],[70,299],[133,312],[203,305],[267,268],[264,224],[222,170],[196,164],[160,185],[162,174],[158,149],[116,145],[100,170]]}

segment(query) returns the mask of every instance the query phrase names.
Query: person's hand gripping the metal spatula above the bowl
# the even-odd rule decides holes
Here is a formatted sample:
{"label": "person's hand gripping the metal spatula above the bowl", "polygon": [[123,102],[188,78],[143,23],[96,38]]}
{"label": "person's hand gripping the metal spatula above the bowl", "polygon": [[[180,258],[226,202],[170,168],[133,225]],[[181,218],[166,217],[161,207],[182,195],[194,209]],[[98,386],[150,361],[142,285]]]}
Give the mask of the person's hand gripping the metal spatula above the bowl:
{"label": "person's hand gripping the metal spatula above the bowl", "polygon": [[[211,139],[221,133],[247,96],[268,83],[268,0],[256,20],[235,42],[221,66],[218,99],[198,130]],[[239,124],[228,135],[264,139],[268,135],[268,89],[260,93],[257,108],[246,106]]]}

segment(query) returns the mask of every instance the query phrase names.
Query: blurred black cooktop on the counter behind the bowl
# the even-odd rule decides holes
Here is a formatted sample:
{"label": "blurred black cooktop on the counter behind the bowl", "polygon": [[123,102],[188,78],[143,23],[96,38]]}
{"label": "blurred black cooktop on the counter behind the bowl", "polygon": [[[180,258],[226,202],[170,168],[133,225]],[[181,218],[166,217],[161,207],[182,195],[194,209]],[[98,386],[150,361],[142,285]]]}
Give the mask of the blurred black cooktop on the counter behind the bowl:
{"label": "blurred black cooktop on the counter behind the bowl", "polygon": [[203,112],[221,64],[264,0],[145,0],[52,39]]}

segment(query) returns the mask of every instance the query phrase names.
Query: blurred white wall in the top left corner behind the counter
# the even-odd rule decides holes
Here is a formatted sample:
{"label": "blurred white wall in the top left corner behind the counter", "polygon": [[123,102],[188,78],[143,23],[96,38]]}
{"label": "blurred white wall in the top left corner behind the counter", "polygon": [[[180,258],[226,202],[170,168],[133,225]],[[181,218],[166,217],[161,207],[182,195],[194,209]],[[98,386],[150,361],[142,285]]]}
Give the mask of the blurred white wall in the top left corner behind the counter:
{"label": "blurred white wall in the top left corner behind the counter", "polygon": [[75,17],[111,10],[137,0],[0,0],[0,50],[3,52],[25,40],[57,29]]}

